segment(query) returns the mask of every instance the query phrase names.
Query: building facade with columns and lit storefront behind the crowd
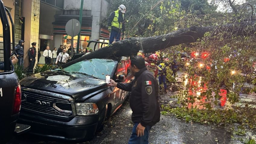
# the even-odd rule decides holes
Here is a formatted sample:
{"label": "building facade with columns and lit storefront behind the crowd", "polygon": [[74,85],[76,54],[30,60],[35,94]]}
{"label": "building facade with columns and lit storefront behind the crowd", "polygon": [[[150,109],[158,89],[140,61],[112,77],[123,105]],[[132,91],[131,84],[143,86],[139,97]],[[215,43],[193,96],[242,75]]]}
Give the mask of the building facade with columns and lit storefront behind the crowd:
{"label": "building facade with columns and lit storefront behind the crowd", "polygon": [[[44,64],[42,55],[46,46],[50,50],[60,45],[71,46],[71,37],[66,34],[65,26],[70,19],[79,20],[81,0],[3,0],[10,10],[15,23],[15,44],[23,39],[24,67],[28,66],[28,50],[32,42],[36,42],[41,51],[39,64]],[[109,32],[101,26],[107,17],[110,0],[84,0],[80,48],[87,46],[89,40],[100,37],[108,38]],[[2,57],[2,25],[0,26],[0,60]],[[74,37],[74,48],[77,47],[77,37]],[[91,46],[90,46],[91,47]],[[36,58],[37,60],[37,58]],[[37,63],[37,61],[36,61]]]}

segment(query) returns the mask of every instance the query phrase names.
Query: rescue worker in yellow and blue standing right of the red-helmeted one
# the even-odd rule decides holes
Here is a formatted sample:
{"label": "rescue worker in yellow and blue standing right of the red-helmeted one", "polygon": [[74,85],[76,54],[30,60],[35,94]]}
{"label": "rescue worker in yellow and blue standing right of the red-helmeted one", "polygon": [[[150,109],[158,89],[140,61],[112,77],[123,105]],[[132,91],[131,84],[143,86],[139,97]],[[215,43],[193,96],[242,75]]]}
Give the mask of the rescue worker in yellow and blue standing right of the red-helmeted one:
{"label": "rescue worker in yellow and blue standing right of the red-helmeted one", "polygon": [[165,93],[167,93],[167,85],[166,85],[166,71],[169,66],[169,59],[164,59],[164,62],[160,63],[158,66],[158,81],[159,81],[159,91],[162,91],[162,83],[164,84]]}

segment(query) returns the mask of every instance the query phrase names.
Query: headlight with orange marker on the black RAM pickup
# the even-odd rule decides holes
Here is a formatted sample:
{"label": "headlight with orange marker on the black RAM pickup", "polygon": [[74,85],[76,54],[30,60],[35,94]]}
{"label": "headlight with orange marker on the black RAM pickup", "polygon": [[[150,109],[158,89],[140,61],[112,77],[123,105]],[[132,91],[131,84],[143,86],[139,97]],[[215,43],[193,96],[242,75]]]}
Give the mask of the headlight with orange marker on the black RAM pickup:
{"label": "headlight with orange marker on the black RAM pickup", "polygon": [[99,109],[94,103],[75,103],[76,115],[88,116],[98,114]]}

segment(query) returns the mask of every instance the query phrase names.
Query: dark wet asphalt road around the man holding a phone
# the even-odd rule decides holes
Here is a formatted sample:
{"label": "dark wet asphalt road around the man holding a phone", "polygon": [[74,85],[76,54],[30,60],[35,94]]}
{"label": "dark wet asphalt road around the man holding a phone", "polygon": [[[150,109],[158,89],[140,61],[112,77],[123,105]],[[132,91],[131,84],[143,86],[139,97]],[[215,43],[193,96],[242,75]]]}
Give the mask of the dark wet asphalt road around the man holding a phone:
{"label": "dark wet asphalt road around the man holding a phone", "polygon": [[[160,93],[160,103],[171,101],[170,94],[176,89],[168,91],[168,94]],[[83,143],[83,144],[125,144],[132,131],[131,109],[129,100],[110,117],[104,124],[104,130],[87,142],[66,142],[49,139],[31,134],[23,134],[14,137],[8,144],[34,144],[34,143]],[[241,142],[231,139],[231,133],[225,128],[215,125],[202,125],[200,123],[185,123],[175,116],[161,116],[161,120],[152,127],[149,136],[150,144],[239,144]]]}

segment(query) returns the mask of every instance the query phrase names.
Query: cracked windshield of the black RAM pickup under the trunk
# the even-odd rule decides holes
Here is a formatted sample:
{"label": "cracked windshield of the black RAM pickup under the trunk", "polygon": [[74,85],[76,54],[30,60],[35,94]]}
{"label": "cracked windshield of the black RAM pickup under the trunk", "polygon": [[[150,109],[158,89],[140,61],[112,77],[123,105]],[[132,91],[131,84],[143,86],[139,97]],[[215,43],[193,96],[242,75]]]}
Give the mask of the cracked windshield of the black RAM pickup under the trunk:
{"label": "cracked windshield of the black RAM pickup under the trunk", "polygon": [[70,73],[80,73],[99,79],[105,79],[105,75],[111,75],[117,61],[111,59],[90,59],[77,62],[68,66],[63,71]]}

